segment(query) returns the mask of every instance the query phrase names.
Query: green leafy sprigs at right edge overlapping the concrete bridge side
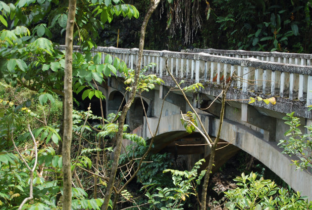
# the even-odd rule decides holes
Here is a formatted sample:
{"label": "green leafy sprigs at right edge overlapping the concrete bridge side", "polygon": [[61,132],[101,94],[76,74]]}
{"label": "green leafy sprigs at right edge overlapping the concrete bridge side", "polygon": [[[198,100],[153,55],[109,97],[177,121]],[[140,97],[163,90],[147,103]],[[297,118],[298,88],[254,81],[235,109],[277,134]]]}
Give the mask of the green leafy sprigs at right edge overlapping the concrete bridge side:
{"label": "green leafy sprigs at right edge overlapping the concrete bridge side", "polygon": [[299,160],[292,160],[296,169],[307,170],[311,174],[312,167],[312,125],[305,126],[307,133],[302,134],[299,129],[300,121],[299,118],[294,116],[293,113],[288,113],[287,117],[284,117],[285,124],[290,127],[284,135],[289,136],[287,140],[280,140],[278,145],[284,149],[283,153],[289,156],[296,156]]}

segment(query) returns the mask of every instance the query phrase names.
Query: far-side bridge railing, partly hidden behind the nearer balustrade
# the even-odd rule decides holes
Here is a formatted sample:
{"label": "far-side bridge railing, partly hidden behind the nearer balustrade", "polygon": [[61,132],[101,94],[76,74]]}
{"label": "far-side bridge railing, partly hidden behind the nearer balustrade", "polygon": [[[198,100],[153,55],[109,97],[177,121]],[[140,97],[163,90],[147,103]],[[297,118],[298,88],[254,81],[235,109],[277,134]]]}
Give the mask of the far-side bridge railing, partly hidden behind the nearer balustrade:
{"label": "far-side bridge railing, partly hidden behind the nearer balustrade", "polygon": [[186,49],[184,52],[205,52],[211,55],[220,55],[236,58],[257,58],[262,61],[270,61],[301,66],[312,66],[312,54],[284,53],[284,52],[258,52],[245,50],[222,50],[222,49]]}

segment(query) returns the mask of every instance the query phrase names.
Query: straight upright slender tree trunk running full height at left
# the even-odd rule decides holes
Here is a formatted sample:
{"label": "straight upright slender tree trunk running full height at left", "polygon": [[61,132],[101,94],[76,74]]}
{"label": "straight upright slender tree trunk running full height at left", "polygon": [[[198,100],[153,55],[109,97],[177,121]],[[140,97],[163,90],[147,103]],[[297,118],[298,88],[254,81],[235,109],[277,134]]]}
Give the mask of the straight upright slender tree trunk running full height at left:
{"label": "straight upright slender tree trunk running full height at left", "polygon": [[69,0],[68,19],[65,37],[65,69],[64,69],[64,133],[62,144],[63,158],[63,210],[71,210],[71,169],[70,146],[72,139],[72,53],[73,31],[75,23],[76,0]]}

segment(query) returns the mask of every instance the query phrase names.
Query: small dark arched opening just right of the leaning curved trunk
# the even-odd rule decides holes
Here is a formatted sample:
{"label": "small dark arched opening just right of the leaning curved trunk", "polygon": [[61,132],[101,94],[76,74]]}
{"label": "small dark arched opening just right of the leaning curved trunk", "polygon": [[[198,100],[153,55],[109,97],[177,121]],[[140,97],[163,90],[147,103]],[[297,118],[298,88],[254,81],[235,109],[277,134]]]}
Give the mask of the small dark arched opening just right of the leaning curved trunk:
{"label": "small dark arched opening just right of the leaning curved trunk", "polygon": [[[145,108],[145,111],[148,111],[149,104],[143,100],[143,105]],[[143,105],[140,97],[136,97],[128,111],[129,115],[129,126],[130,130],[134,130],[136,127],[143,125],[144,123],[144,110]]]}

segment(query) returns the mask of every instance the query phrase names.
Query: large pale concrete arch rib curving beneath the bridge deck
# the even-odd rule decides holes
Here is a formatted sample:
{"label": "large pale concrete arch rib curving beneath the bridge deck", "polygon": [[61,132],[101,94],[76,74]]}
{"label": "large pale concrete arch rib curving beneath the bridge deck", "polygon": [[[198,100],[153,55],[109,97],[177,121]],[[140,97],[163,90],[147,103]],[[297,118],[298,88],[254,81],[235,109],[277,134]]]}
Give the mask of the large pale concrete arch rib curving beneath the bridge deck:
{"label": "large pale concrete arch rib curving beneath the bridge deck", "polygon": [[[163,149],[165,145],[173,141],[173,137],[181,138],[183,136],[182,130],[185,129],[180,123],[180,118],[180,115],[161,118],[157,136],[154,140],[155,151]],[[216,136],[219,119],[209,115],[200,115],[200,118],[209,135]],[[149,124],[153,125],[152,131],[155,130],[158,118],[149,118],[148,120]],[[146,125],[144,125],[142,133],[144,137],[151,137]],[[281,153],[282,150],[277,146],[276,142],[265,141],[263,134],[260,132],[227,119],[223,121],[220,138],[226,142],[231,142],[234,146],[254,156],[294,190],[301,191],[302,195],[312,198],[311,175],[306,171],[296,170],[296,167],[291,166],[292,162],[289,156]]]}

